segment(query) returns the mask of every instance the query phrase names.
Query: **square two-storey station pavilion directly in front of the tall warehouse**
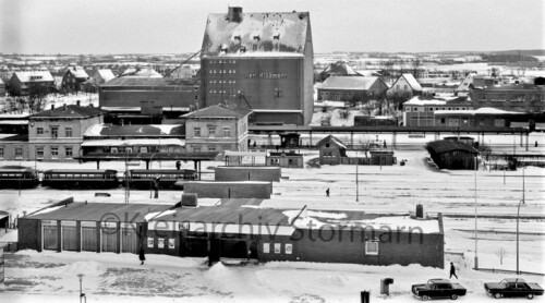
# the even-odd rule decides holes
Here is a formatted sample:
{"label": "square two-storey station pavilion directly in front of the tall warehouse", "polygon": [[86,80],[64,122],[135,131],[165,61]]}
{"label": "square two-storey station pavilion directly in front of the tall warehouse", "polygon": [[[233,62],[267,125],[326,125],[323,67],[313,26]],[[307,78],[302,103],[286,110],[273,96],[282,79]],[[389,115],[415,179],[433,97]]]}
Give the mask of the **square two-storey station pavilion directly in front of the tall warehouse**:
{"label": "square two-storey station pavilion directly in front of the tall warehouse", "polygon": [[247,150],[251,110],[210,106],[182,116],[190,153]]}

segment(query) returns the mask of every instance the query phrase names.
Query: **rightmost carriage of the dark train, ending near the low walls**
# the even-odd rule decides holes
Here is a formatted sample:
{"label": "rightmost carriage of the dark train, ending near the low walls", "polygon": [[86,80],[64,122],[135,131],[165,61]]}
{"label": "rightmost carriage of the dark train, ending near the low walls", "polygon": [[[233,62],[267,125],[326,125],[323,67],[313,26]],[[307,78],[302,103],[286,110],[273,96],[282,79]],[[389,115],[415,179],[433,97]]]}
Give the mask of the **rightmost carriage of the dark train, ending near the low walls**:
{"label": "rightmost carriage of the dark train, ending near the low walls", "polygon": [[[182,170],[143,170],[133,169],[125,173],[125,181],[132,189],[154,189],[155,182],[158,180],[159,189],[171,189],[175,182],[180,180],[197,180],[198,174],[194,169]],[[126,182],[123,182],[126,185]]]}

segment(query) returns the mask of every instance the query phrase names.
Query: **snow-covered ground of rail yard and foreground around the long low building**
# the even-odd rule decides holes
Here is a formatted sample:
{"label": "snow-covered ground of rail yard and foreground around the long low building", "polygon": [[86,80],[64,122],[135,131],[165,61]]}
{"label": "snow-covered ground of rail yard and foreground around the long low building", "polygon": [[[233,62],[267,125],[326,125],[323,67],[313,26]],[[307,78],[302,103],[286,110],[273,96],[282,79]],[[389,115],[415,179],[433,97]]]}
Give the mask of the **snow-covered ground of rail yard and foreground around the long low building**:
{"label": "snow-covered ground of rail yard and foreground around the long low building", "polygon": [[[395,150],[405,166],[360,166],[358,196],[355,166],[306,166],[304,169],[282,169],[282,180],[274,183],[271,199],[259,207],[310,210],[362,210],[380,214],[414,211],[422,204],[429,214],[443,213],[445,223],[445,264],[453,262],[462,286],[469,293],[460,302],[485,302],[483,283],[499,281],[507,274],[492,274],[472,269],[474,257],[475,192],[479,215],[477,243],[481,268],[516,269],[516,215],[522,198],[522,171],[479,170],[475,191],[474,171],[437,171],[424,161],[428,157],[416,141],[402,138],[405,148]],[[373,136],[374,137],[374,136]],[[391,136],[380,135],[379,140]],[[491,145],[498,150],[512,152],[512,137],[491,136]],[[545,136],[532,133],[531,153],[544,154]],[[517,150],[522,150],[516,140]],[[316,152],[305,153],[305,162],[317,158]],[[26,165],[34,162],[8,162]],[[222,162],[203,163],[204,179],[213,179],[213,168]],[[191,168],[192,163],[184,163]],[[96,168],[96,163],[46,163],[48,168]],[[153,168],[174,168],[174,162],[153,163]],[[101,168],[124,170],[123,162],[104,162]],[[131,167],[135,168],[135,167]],[[144,168],[144,165],[141,165]],[[524,199],[520,220],[520,269],[545,272],[545,169],[529,167],[524,171]],[[505,180],[505,183],[504,183]],[[330,197],[325,190],[330,189]],[[122,189],[108,190],[110,197],[95,197],[96,191],[66,191],[37,187],[0,190],[0,209],[14,216],[34,211],[53,201],[74,196],[76,201],[123,203]],[[100,192],[104,192],[100,190]],[[131,191],[130,203],[159,203],[172,205],[182,192],[161,191],[159,199],[150,198],[149,191]],[[203,199],[203,205],[216,201]],[[15,241],[16,232],[0,232],[0,242]],[[502,264],[498,256],[504,251]],[[207,267],[206,259],[147,255],[141,266],[133,254],[95,254],[71,252],[22,251],[7,254],[7,283],[0,287],[1,302],[76,302],[78,281],[84,274],[84,292],[88,302],[360,302],[360,291],[371,291],[371,302],[416,302],[410,286],[429,278],[448,278],[448,269],[411,266],[362,266],[348,264],[268,263],[235,266],[216,264]],[[528,281],[545,284],[543,276],[522,276]],[[393,278],[391,295],[379,292],[379,281]],[[506,300],[525,302],[526,299]],[[534,302],[543,302],[536,298]]]}

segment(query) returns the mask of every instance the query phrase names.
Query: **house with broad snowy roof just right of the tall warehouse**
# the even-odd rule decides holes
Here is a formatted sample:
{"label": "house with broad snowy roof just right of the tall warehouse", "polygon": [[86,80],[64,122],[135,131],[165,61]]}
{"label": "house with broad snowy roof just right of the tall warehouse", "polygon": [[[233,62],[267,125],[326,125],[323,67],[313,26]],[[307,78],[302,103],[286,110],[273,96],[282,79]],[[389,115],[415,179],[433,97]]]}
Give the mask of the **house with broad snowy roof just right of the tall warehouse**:
{"label": "house with broad snowy roof just right of the tall warehouse", "polygon": [[351,101],[380,98],[388,86],[377,76],[330,76],[317,88],[318,100]]}

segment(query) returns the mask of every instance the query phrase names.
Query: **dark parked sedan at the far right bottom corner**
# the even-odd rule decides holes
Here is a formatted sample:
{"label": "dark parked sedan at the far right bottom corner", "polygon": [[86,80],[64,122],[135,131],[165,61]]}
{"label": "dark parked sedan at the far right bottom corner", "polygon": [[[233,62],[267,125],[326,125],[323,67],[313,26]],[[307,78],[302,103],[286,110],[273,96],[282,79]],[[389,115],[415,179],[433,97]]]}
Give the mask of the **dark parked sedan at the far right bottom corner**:
{"label": "dark parked sedan at the far right bottom corner", "polygon": [[525,296],[534,299],[535,295],[543,295],[543,288],[537,283],[528,283],[520,278],[508,278],[499,283],[485,283],[486,293],[496,298]]}

